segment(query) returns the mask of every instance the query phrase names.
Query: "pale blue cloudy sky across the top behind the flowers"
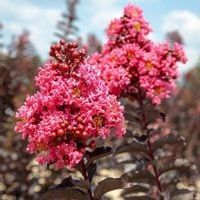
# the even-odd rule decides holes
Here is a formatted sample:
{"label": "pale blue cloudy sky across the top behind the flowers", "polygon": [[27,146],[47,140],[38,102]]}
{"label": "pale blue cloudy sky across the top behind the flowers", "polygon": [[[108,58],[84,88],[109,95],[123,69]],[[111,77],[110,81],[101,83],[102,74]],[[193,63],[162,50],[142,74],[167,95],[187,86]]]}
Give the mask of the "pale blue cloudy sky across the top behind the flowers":
{"label": "pale blue cloudy sky across the top behind the flowers", "polygon": [[[194,66],[200,57],[200,0],[79,1],[77,26],[83,37],[94,33],[105,41],[105,28],[110,20],[119,17],[127,3],[134,3],[144,10],[153,29],[153,40],[163,41],[168,31],[180,32],[188,57],[187,65],[180,67],[182,73]],[[13,34],[29,30],[36,50],[45,59],[50,43],[56,40],[56,23],[63,11],[66,11],[65,0],[0,0],[4,39],[8,43]]]}

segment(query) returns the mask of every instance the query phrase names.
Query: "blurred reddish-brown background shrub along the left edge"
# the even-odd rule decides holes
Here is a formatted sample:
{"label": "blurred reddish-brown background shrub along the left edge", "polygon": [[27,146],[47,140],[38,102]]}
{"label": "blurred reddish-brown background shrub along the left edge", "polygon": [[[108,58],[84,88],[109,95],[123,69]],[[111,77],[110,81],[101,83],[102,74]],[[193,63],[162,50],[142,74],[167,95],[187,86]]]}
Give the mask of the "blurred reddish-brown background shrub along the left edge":
{"label": "blurred reddish-brown background shrub along the left edge", "polygon": [[[4,25],[6,28],[6,25]],[[3,35],[2,35],[3,36]],[[26,141],[13,130],[15,111],[25,94],[35,91],[34,77],[41,60],[28,31],[14,35],[9,43],[2,37],[0,52],[0,199],[38,199],[49,186],[68,175],[38,165],[25,151]],[[59,173],[59,176],[58,176]],[[57,178],[59,177],[59,178]],[[61,179],[61,178],[60,178]]]}

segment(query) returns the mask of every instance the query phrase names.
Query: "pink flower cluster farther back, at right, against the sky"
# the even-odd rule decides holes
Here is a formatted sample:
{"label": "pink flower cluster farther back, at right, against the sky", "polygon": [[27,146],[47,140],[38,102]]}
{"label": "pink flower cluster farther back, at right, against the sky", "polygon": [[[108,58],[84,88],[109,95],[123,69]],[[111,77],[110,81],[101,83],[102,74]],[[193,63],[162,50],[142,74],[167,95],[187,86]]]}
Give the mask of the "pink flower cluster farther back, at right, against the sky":
{"label": "pink flower cluster farther back, at right, against the sky", "polygon": [[142,10],[133,5],[125,7],[123,16],[109,25],[107,43],[89,62],[98,66],[111,94],[147,98],[153,104],[169,97],[177,78],[177,62],[187,59],[178,43],[150,41],[150,31]]}

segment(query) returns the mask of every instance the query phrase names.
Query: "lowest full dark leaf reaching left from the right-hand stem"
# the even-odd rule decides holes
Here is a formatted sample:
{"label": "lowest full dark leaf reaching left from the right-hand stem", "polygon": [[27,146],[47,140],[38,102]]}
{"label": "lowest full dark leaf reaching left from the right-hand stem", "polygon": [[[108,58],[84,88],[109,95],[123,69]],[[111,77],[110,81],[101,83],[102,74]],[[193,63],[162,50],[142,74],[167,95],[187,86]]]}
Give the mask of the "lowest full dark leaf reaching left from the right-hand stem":
{"label": "lowest full dark leaf reaching left from the right-hand stem", "polygon": [[149,184],[155,184],[155,177],[152,173],[149,171],[138,171],[133,170],[130,172],[127,172],[121,176],[125,181],[127,182],[142,182],[142,183],[149,183]]}

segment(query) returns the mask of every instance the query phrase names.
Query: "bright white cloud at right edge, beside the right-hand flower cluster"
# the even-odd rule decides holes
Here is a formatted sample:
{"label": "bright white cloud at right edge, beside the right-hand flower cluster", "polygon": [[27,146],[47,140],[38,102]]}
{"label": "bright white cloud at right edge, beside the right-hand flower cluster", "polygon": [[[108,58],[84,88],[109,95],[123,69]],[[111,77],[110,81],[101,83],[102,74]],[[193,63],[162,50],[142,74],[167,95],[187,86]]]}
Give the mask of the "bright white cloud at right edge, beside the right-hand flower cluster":
{"label": "bright white cloud at right edge, beside the right-hand flower cluster", "polygon": [[163,32],[177,30],[184,39],[187,66],[181,67],[185,72],[194,67],[200,56],[200,17],[189,10],[177,10],[169,13],[163,23]]}

